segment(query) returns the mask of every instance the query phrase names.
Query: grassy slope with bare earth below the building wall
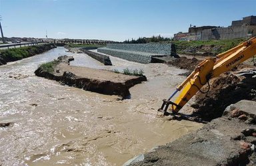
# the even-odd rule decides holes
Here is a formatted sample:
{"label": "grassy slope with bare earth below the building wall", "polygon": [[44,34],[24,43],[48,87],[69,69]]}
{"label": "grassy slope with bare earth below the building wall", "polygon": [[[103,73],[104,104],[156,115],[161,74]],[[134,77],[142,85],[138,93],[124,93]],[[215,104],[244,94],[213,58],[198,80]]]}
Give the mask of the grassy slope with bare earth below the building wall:
{"label": "grassy slope with bare earth below the building wall", "polygon": [[205,53],[215,56],[225,52],[246,39],[232,39],[223,41],[172,41],[178,54]]}

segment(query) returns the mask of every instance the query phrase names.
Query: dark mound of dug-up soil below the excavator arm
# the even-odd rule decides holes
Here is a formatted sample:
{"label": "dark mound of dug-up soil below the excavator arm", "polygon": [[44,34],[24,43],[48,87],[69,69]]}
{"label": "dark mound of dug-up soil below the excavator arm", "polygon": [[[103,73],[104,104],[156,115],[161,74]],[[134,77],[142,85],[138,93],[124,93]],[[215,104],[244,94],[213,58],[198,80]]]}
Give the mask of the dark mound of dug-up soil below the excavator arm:
{"label": "dark mound of dug-up soil below the excavator arm", "polygon": [[[198,92],[195,96],[193,116],[211,121],[221,117],[225,108],[240,100],[256,101],[256,78],[235,76],[232,72],[221,74],[210,81],[210,91],[207,94]],[[202,91],[206,91],[203,87]]]}

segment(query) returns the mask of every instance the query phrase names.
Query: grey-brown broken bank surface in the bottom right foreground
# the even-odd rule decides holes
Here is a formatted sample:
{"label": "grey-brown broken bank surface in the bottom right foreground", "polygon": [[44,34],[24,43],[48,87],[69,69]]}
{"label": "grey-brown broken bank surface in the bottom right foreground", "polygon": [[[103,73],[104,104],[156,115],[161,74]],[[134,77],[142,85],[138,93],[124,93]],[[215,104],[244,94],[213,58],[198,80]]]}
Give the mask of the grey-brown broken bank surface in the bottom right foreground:
{"label": "grey-brown broken bank surface in the bottom right foreground", "polygon": [[125,165],[255,165],[256,102],[241,100],[223,116]]}

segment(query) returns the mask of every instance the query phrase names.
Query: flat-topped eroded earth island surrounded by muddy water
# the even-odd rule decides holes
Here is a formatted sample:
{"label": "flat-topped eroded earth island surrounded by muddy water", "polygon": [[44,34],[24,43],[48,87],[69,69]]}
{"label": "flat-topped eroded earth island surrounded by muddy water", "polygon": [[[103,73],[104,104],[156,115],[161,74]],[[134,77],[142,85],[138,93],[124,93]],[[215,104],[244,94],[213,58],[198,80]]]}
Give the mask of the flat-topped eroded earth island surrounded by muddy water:
{"label": "flat-topped eroded earth island surrounded by muddy water", "polygon": [[54,62],[53,71],[47,71],[40,66],[35,70],[35,74],[69,86],[122,98],[129,96],[129,88],[147,80],[145,76],[129,76],[108,70],[69,66],[71,60],[71,56],[60,56]]}

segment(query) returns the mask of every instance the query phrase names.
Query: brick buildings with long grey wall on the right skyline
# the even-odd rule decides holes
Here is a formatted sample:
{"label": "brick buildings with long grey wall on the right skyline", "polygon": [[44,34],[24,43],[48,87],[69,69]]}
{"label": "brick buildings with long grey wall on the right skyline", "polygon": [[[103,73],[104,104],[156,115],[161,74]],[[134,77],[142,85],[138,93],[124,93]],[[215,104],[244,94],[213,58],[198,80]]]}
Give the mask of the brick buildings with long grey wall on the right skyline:
{"label": "brick buildings with long grey wall on the right skyline", "polygon": [[246,38],[256,35],[256,16],[243,17],[232,21],[229,27],[203,26],[189,27],[188,33],[177,33],[173,39],[177,41],[209,41]]}

